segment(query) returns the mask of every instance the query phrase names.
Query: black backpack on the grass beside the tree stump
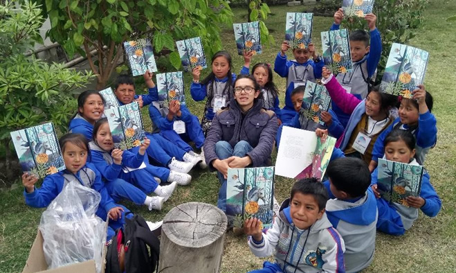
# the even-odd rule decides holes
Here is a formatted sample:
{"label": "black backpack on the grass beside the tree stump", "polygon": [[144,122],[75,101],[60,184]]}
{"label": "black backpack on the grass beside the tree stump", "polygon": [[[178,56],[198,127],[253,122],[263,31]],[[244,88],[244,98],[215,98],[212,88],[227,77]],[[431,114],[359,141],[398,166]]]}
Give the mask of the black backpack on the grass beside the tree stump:
{"label": "black backpack on the grass beside the tree stump", "polygon": [[[127,215],[129,213],[126,213]],[[125,226],[116,231],[107,243],[106,273],[139,273],[158,270],[160,240],[150,231],[145,220],[135,214],[133,218],[125,218]],[[147,246],[150,248],[147,249]],[[125,250],[125,268],[120,269],[120,252]]]}

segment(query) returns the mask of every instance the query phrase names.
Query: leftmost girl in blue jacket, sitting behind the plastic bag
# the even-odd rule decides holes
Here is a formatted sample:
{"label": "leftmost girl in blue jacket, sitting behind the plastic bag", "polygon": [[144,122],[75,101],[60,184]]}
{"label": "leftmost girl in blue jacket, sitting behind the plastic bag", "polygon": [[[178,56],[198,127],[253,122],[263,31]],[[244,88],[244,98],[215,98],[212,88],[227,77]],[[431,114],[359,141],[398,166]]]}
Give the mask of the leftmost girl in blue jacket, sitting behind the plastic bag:
{"label": "leftmost girl in blue jacket, sitting behind the plastic bag", "polygon": [[93,164],[86,163],[89,155],[89,144],[82,134],[65,134],[59,139],[60,149],[64,157],[66,170],[48,175],[44,178],[40,188],[35,187],[38,178],[30,173],[22,175],[22,184],[25,186],[24,197],[26,204],[35,208],[44,208],[51,204],[55,197],[68,183],[80,183],[93,188],[101,195],[100,206],[96,215],[103,220],[109,217],[108,238],[115,234],[115,230],[125,224],[125,213],[129,210],[125,206],[114,203],[104,187],[101,175]]}

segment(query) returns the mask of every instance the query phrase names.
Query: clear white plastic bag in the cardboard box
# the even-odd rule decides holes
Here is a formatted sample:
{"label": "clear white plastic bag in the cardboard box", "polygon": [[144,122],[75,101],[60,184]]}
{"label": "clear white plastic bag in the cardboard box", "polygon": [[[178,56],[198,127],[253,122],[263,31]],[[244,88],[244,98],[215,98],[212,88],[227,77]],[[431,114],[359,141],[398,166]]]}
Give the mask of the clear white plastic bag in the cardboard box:
{"label": "clear white plastic bag in the cardboard box", "polygon": [[101,272],[106,228],[95,216],[100,200],[97,191],[70,182],[49,204],[39,223],[48,269],[93,259]]}

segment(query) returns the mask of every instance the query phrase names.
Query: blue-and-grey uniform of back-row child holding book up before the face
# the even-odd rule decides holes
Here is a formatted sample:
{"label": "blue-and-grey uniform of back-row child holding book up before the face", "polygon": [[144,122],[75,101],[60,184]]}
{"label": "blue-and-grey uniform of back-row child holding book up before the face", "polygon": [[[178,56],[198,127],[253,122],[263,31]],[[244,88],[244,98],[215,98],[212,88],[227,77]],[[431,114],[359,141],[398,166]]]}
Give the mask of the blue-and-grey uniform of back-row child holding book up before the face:
{"label": "blue-and-grey uniform of back-row child holding book up before the face", "polygon": [[286,60],[286,55],[282,57],[280,52],[277,53],[274,63],[274,71],[282,78],[286,78],[286,93],[285,106],[282,108],[281,120],[282,123],[287,123],[295,116],[296,111],[291,102],[291,92],[298,85],[302,85],[306,80],[316,82],[316,79],[321,78],[322,68],[324,66],[323,59],[318,57],[314,62],[311,58],[300,64],[296,60]]}

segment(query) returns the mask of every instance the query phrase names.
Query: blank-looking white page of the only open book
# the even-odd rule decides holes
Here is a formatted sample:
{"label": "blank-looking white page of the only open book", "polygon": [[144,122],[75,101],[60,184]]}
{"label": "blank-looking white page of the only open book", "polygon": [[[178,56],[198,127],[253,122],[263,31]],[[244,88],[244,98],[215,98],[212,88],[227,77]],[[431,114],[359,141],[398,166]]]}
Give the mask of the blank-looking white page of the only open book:
{"label": "blank-looking white page of the only open book", "polygon": [[275,162],[275,174],[295,178],[312,164],[311,155],[316,147],[315,132],[284,126]]}

